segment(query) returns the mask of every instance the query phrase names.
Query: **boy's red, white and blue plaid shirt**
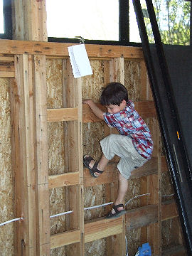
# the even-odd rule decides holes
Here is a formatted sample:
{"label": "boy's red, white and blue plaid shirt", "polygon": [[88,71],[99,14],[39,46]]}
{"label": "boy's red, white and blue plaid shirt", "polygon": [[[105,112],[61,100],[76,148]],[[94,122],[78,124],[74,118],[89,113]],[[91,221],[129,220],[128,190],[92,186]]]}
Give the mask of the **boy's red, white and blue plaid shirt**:
{"label": "boy's red, white and blue plaid shirt", "polygon": [[141,156],[145,159],[151,158],[153,151],[151,132],[134,109],[134,103],[131,100],[124,110],[116,114],[105,113],[104,119],[109,127],[117,128],[119,134],[132,138],[134,147]]}

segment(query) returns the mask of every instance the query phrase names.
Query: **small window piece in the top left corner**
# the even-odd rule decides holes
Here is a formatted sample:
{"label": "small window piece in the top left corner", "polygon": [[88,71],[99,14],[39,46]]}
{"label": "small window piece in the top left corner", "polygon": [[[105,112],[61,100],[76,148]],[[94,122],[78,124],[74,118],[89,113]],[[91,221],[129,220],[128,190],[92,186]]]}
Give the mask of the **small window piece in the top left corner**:
{"label": "small window piece in the top left corner", "polygon": [[0,38],[12,38],[11,0],[0,0]]}

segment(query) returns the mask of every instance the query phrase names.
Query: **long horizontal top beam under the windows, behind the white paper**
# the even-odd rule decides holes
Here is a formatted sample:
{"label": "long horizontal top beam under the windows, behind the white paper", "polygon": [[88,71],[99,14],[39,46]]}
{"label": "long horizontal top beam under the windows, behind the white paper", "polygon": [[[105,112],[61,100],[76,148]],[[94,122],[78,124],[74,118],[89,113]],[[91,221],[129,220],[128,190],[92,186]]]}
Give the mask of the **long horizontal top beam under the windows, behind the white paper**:
{"label": "long horizontal top beam under the windows, behind the white paper", "polygon": [[[68,56],[68,46],[74,43],[50,43],[40,41],[17,41],[1,39],[0,52],[4,54],[43,54],[47,56]],[[89,58],[143,59],[141,47],[85,45]]]}

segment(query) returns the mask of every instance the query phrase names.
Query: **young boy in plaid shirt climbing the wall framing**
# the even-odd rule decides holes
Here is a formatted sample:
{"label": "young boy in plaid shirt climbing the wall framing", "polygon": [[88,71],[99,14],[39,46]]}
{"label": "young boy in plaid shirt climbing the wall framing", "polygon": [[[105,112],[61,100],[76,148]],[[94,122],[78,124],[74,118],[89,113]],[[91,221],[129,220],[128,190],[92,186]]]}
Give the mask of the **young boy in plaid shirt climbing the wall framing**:
{"label": "young boy in plaid shirt climbing the wall framing", "polygon": [[97,178],[105,170],[107,163],[117,155],[120,157],[117,169],[119,170],[119,183],[117,198],[114,206],[106,218],[118,218],[126,213],[124,210],[124,196],[128,188],[128,178],[131,172],[142,166],[151,158],[153,142],[151,133],[142,117],[134,110],[134,103],[128,100],[127,89],[119,82],[111,82],[105,87],[100,97],[107,112],[102,112],[92,100],[84,100],[92,112],[109,127],[117,128],[119,134],[110,134],[102,139],[102,156],[96,162],[91,156],[83,156],[83,164],[90,170],[90,174]]}

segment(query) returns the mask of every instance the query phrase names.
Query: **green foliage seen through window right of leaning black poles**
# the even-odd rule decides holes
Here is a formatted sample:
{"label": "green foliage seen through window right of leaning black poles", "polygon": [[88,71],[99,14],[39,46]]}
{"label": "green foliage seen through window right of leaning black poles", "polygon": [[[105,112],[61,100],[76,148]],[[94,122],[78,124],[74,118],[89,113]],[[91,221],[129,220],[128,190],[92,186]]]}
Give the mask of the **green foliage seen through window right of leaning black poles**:
{"label": "green foliage seen through window right of leaning black poles", "polygon": [[[161,41],[166,44],[190,44],[191,2],[184,0],[154,0]],[[149,42],[154,43],[149,18],[145,18]]]}

